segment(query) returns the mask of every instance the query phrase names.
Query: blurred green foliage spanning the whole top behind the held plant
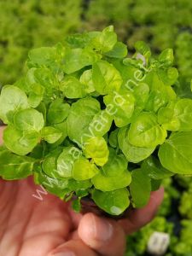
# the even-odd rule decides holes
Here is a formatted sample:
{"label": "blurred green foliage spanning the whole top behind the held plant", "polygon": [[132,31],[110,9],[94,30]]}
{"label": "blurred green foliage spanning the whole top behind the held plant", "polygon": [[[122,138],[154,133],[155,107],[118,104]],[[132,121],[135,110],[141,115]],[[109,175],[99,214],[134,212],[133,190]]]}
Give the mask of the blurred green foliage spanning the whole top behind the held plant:
{"label": "blurred green foliage spanning the whole top behind the held plant", "polygon": [[130,49],[138,40],[148,42],[154,53],[173,48],[185,87],[192,67],[191,11],[189,0],[0,0],[0,84],[20,77],[29,49],[63,42],[71,32],[113,24],[119,38],[128,38]]}

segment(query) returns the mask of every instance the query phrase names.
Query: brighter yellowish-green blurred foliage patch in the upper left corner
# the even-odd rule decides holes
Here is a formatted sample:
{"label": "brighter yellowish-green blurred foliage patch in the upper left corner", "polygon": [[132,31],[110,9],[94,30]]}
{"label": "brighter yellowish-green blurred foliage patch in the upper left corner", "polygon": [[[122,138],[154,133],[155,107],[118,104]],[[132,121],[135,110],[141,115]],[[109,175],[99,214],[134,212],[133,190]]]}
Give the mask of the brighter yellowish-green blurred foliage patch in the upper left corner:
{"label": "brighter yellowish-green blurred foliage patch in the upper left corner", "polygon": [[24,69],[28,50],[62,42],[81,24],[81,0],[0,0],[0,85]]}

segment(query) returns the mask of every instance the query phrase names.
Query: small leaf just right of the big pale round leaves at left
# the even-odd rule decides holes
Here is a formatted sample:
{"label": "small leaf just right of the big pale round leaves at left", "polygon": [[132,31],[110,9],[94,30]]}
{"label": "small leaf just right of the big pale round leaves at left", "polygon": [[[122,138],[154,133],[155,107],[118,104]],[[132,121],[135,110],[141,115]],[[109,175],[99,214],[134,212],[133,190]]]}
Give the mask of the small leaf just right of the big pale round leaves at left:
{"label": "small leaf just right of the big pale round leaves at left", "polygon": [[55,143],[62,136],[62,132],[53,126],[44,127],[41,131],[41,137],[48,143]]}

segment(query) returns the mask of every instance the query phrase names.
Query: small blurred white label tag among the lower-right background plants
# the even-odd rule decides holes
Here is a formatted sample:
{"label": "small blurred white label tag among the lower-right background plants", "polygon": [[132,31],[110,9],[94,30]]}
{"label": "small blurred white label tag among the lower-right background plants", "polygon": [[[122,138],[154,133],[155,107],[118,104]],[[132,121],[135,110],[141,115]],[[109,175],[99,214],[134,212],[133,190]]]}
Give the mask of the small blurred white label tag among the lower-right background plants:
{"label": "small blurred white label tag among the lower-right background plants", "polygon": [[170,244],[169,234],[162,232],[154,232],[148,240],[148,253],[161,256],[166,253]]}

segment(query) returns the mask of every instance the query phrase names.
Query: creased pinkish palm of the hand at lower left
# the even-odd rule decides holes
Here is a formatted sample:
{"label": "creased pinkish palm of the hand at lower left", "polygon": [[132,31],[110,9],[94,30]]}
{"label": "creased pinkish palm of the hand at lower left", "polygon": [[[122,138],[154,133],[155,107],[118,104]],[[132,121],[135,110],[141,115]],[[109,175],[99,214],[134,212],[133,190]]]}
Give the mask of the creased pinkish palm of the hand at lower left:
{"label": "creased pinkish palm of the hand at lower left", "polygon": [[44,195],[43,201],[32,196],[31,178],[1,181],[1,189],[0,255],[48,255],[75,229],[67,204],[53,195]]}

